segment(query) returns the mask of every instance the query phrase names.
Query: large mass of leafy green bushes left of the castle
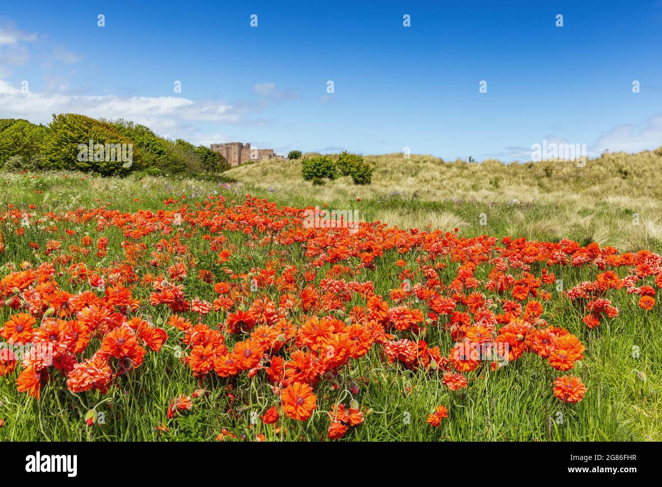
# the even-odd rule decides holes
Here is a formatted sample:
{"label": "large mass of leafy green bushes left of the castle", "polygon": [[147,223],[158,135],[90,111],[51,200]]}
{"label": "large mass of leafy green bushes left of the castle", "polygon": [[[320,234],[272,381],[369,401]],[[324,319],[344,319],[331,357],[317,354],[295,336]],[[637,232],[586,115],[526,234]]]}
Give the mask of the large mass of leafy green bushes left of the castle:
{"label": "large mass of leafy green bushes left of the castle", "polygon": [[210,175],[230,166],[208,147],[182,139],[169,140],[132,121],[63,113],[53,115],[49,126],[23,119],[0,119],[0,168],[79,170],[102,176],[138,173],[140,177]]}

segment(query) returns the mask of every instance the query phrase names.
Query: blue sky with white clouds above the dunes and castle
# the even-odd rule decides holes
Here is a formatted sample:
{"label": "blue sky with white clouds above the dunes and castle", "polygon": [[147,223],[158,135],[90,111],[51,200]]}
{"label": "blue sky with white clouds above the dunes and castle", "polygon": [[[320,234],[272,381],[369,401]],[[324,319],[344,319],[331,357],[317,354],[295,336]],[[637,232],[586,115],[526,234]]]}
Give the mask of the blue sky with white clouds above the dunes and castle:
{"label": "blue sky with white clouds above the dunes and castle", "polygon": [[544,139],[662,145],[662,1],[458,4],[4,2],[0,118],[74,112],[199,144],[446,160],[524,160]]}

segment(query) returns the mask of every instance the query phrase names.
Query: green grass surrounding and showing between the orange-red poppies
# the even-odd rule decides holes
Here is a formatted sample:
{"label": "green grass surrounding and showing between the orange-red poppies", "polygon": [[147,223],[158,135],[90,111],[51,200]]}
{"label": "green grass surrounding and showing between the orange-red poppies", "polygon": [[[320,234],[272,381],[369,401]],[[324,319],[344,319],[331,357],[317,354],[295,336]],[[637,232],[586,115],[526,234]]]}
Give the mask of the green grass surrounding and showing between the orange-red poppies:
{"label": "green grass surrounding and showing between the orange-red poppies", "polygon": [[[77,207],[98,207],[107,203],[109,208],[134,212],[138,209],[158,210],[164,208],[163,201],[169,197],[187,195],[187,199],[201,201],[207,194],[217,191],[228,200],[243,200],[244,193],[269,197],[281,204],[305,206],[319,204],[321,199],[304,195],[290,197],[281,193],[271,193],[265,189],[247,188],[241,185],[226,189],[218,182],[197,180],[169,181],[164,178],[144,178],[142,180],[118,178],[85,178],[81,174],[69,173],[64,179],[58,174],[33,175],[1,174],[5,182],[0,189],[0,211],[7,205],[23,209],[28,204],[36,205],[35,211],[65,213]],[[37,192],[34,192],[37,191]],[[42,191],[42,192],[38,192]],[[134,201],[137,199],[137,201]],[[330,207],[338,201],[331,201]],[[349,201],[346,201],[349,203]],[[434,211],[452,212],[460,215],[463,221],[477,221],[485,212],[483,203],[434,202],[420,199],[397,197],[375,198],[355,202],[361,213],[374,214],[376,211],[411,211],[428,213]],[[354,206],[336,206],[354,207]],[[492,218],[487,227],[465,226],[462,235],[489,235],[513,237],[526,236],[512,232],[517,225],[518,215],[526,219],[537,215],[544,221],[545,212],[553,211],[551,205],[532,203],[524,208],[507,203],[497,203],[489,207]],[[89,233],[96,238],[95,221],[84,225],[58,223],[57,235],[63,235],[64,228],[77,231],[81,235]],[[525,225],[526,226],[526,225]],[[30,230],[32,231],[32,230]],[[5,231],[5,254],[0,254],[0,264],[13,262],[19,265],[28,260],[38,264],[27,242],[34,240],[43,244],[53,235],[35,232],[30,238],[17,239]],[[91,256],[88,266],[109,265],[114,256],[122,258],[120,243],[121,231],[107,229],[103,235],[109,237],[109,255],[101,260]],[[233,244],[244,246],[246,238],[239,233],[226,233]],[[542,233],[542,235],[545,235]],[[549,234],[550,239],[559,237]],[[571,237],[571,236],[569,236]],[[144,241],[148,244],[160,239],[150,235]],[[68,246],[66,239],[63,248]],[[189,242],[193,253],[205,258],[205,242],[196,235]],[[246,249],[246,247],[244,247]],[[248,249],[246,249],[248,250]],[[275,245],[273,250],[285,252],[287,260],[298,267],[305,262],[303,252],[295,245],[291,247]],[[253,260],[237,258],[232,261],[236,270],[248,270],[252,266],[263,266],[267,261],[263,249],[250,250]],[[399,284],[393,262],[404,258],[408,263],[415,262],[416,252],[400,255],[387,252],[380,258],[374,271],[366,271],[361,280],[373,280],[377,294],[387,294]],[[103,262],[103,263],[102,263]],[[325,268],[328,268],[327,265]],[[587,270],[554,268],[557,278],[564,280],[566,289],[573,284],[592,278]],[[9,270],[3,268],[0,278]],[[144,270],[139,270],[142,274]],[[193,273],[192,273],[193,274]],[[485,272],[477,275],[485,278]],[[85,284],[71,284],[61,280],[62,287],[75,293],[87,290]],[[213,298],[211,286],[201,284],[195,275],[185,281],[188,298],[201,296]],[[140,313],[158,319],[167,319],[169,313],[163,306],[152,307],[148,296],[150,290],[134,290],[134,296],[142,301]],[[277,298],[272,298],[277,301]],[[458,392],[449,392],[441,378],[427,372],[412,372],[401,366],[389,366],[380,356],[377,347],[367,356],[352,361],[344,375],[357,383],[357,399],[361,406],[369,408],[365,422],[350,429],[344,441],[645,441],[662,439],[662,398],[658,391],[662,386],[659,364],[662,362],[661,308],[659,304],[649,312],[638,309],[636,300],[624,291],[610,295],[620,315],[614,320],[602,323],[596,329],[588,329],[581,323],[581,313],[565,299],[552,299],[545,303],[543,317],[555,326],[563,326],[577,335],[586,347],[585,360],[571,373],[581,376],[588,392],[579,404],[561,404],[553,397],[551,384],[557,375],[540,357],[535,354],[525,356],[508,366],[491,372],[489,367],[481,367],[478,372],[467,374],[469,387]],[[354,304],[354,303],[352,303]],[[4,323],[11,313],[9,307],[0,307],[0,322]],[[210,313],[204,322],[215,325],[222,321],[221,313]],[[269,425],[251,424],[254,411],[262,414],[277,402],[277,396],[263,380],[249,379],[240,374],[233,380],[206,380],[202,385],[195,379],[187,366],[181,363],[172,347],[177,345],[174,334],[166,347],[155,354],[148,352],[145,362],[138,370],[122,376],[106,396],[98,392],[72,394],[66,390],[64,378],[42,388],[42,398],[35,401],[26,394],[19,394],[15,388],[15,372],[10,378],[0,378],[0,419],[5,424],[0,427],[0,440],[24,441],[141,441],[141,440],[213,440],[222,429],[234,433],[241,439],[255,439],[263,433],[267,440],[317,441],[326,438],[328,411],[332,404],[347,403],[350,394],[343,388],[332,390],[326,381],[320,381],[318,409],[310,420],[303,423],[287,418],[281,421],[281,432],[274,433]],[[399,336],[399,338],[404,335]],[[439,345],[442,354],[452,342],[446,331],[440,327],[428,327],[425,337],[430,345]],[[92,344],[89,349],[96,349]],[[639,347],[639,356],[633,356],[633,347]],[[638,372],[645,374],[641,379]],[[479,378],[478,375],[483,376]],[[193,409],[185,415],[167,419],[166,409],[171,398],[179,394],[191,394],[204,388],[208,391],[203,397],[193,400]],[[235,395],[230,409],[228,392]],[[426,424],[426,418],[435,406],[444,404],[449,409],[448,419],[436,429]],[[83,419],[90,409],[105,413],[105,424],[87,427]],[[168,433],[160,433],[155,428],[164,423]]]}

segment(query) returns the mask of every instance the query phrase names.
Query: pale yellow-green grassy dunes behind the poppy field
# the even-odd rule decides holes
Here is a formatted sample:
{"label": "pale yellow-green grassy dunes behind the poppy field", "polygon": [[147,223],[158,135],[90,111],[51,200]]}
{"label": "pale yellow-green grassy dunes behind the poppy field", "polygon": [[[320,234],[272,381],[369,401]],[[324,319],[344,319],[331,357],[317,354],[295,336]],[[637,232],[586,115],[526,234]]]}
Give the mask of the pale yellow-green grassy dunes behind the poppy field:
{"label": "pale yellow-green grassy dunes behind the poppy field", "polygon": [[467,236],[567,237],[620,250],[662,248],[662,184],[655,177],[662,148],[606,154],[584,167],[444,162],[420,155],[406,160],[402,154],[365,160],[375,166],[370,186],[356,186],[349,176],[313,186],[301,178],[299,160],[259,162],[226,175],[281,204],[356,208],[365,220],[401,228],[457,227]]}

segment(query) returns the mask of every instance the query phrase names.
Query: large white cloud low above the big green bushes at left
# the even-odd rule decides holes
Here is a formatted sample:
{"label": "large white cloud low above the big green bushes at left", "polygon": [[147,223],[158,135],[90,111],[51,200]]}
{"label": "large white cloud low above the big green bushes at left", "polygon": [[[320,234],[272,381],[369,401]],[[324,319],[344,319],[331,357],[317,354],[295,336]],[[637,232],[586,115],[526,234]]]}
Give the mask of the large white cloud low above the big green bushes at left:
{"label": "large white cloud low above the big green bushes at left", "polygon": [[[135,96],[134,93],[95,95],[91,88],[71,85],[75,70],[64,74],[62,63],[73,64],[82,58],[64,44],[49,46],[37,54],[45,60],[39,66],[44,84],[37,92],[23,93],[18,84],[7,79],[9,67],[22,66],[30,59],[25,42],[42,40],[36,33],[19,30],[0,17],[0,117],[22,118],[34,123],[49,123],[54,113],[79,113],[93,118],[124,118],[150,127],[159,135],[189,140],[218,137],[214,123],[269,125],[270,120],[246,119],[247,114],[264,111],[284,100],[299,99],[293,90],[279,90],[275,83],[256,83],[253,99],[224,103],[213,99],[193,100],[181,96]],[[30,86],[32,88],[32,86]],[[211,131],[205,131],[211,125]],[[212,140],[217,141],[217,140]]]}

